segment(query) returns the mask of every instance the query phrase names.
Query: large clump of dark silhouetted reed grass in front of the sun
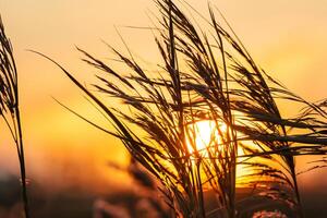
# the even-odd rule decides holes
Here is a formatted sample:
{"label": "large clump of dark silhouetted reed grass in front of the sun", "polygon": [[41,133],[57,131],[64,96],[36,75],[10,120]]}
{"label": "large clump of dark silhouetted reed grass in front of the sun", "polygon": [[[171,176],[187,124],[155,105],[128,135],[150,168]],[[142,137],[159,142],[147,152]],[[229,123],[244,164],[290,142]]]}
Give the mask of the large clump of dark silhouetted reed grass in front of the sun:
{"label": "large clump of dark silhouetted reed grass in front of the sun", "polygon": [[[155,28],[162,59],[158,71],[144,70],[130,50],[124,56],[108,45],[129,70],[129,74],[122,74],[78,49],[83,61],[106,72],[97,75],[99,84],[94,87],[120,99],[122,105],[107,104],[59,63],[39,53],[61,68],[114,131],[72,112],[121,140],[135,160],[164,184],[162,193],[175,217],[213,214],[205,209],[206,189],[218,196],[218,217],[238,217],[240,165],[252,170],[241,178],[246,179],[242,180],[243,185],[255,190],[250,197],[281,202],[302,217],[294,158],[326,155],[326,101],[308,102],[269,76],[251,58],[229,24],[228,32],[216,21],[211,7],[206,20],[182,1],[209,24],[210,29],[205,32],[171,0],[155,2],[161,15],[160,27]],[[277,99],[296,102],[304,109],[295,118],[283,118]],[[123,105],[129,110],[121,110]],[[216,123],[215,132],[220,138],[218,142],[213,137],[205,148],[207,155],[197,149],[197,131],[192,125],[203,120]],[[220,123],[226,124],[225,131]]]}

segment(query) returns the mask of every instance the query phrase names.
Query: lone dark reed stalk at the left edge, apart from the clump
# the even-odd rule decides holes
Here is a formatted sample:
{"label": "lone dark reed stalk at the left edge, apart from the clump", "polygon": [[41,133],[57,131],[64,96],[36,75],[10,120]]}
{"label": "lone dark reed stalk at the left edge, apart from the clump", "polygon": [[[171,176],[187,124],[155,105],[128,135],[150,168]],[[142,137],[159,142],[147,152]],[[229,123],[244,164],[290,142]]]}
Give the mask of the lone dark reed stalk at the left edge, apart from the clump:
{"label": "lone dark reed stalk at the left edge, apart from the clump", "polygon": [[17,149],[22,183],[22,198],[24,203],[25,217],[28,218],[29,210],[26,186],[27,182],[24,143],[19,102],[19,78],[13,56],[13,48],[10,39],[5,35],[4,26],[0,16],[0,113],[14,140],[14,144]]}

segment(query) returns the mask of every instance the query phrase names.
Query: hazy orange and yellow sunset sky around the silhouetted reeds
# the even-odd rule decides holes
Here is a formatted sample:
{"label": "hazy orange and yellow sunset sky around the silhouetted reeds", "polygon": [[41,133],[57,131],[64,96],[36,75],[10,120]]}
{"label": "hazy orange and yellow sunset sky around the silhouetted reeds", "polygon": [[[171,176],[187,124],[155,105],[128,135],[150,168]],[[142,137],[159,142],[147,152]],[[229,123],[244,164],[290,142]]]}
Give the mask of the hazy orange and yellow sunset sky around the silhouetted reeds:
{"label": "hazy orange and yellow sunset sky around the silhouetted reeds", "polygon": [[[207,1],[189,0],[207,14]],[[327,0],[216,0],[254,60],[291,90],[310,100],[327,97]],[[27,173],[53,189],[76,185],[104,192],[110,185],[129,185],[123,174],[108,169],[107,161],[126,162],[122,145],[59,106],[52,97],[100,123],[101,117],[82,93],[49,61],[26,51],[40,51],[89,84],[96,70],[80,58],[75,46],[102,59],[112,58],[101,40],[122,49],[116,28],[143,60],[159,59],[148,31],[124,26],[150,26],[157,13],[150,0],[0,0],[0,13],[14,47],[19,68],[21,110]],[[286,111],[298,110],[288,106]],[[1,135],[3,126],[1,126]],[[301,162],[308,158],[302,158]],[[1,171],[17,172],[17,158],[10,137],[0,140]],[[324,172],[325,171],[325,172]],[[324,177],[325,173],[325,177]],[[303,175],[306,186],[326,169]],[[315,182],[317,184],[317,182]],[[104,187],[105,185],[105,187]]]}

